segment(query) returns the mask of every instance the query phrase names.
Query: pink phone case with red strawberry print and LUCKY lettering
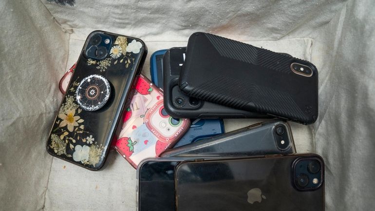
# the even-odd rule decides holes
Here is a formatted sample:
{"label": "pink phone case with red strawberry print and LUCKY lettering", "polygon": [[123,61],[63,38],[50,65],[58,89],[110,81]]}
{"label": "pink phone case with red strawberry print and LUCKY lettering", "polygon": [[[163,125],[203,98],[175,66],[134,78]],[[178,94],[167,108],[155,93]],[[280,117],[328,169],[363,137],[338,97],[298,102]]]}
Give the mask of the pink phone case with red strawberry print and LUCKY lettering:
{"label": "pink phone case with red strawberry print and LUCKY lettering", "polygon": [[169,116],[164,109],[163,92],[143,75],[138,77],[134,89],[114,149],[137,168],[143,159],[157,157],[171,148],[187,132],[190,121]]}

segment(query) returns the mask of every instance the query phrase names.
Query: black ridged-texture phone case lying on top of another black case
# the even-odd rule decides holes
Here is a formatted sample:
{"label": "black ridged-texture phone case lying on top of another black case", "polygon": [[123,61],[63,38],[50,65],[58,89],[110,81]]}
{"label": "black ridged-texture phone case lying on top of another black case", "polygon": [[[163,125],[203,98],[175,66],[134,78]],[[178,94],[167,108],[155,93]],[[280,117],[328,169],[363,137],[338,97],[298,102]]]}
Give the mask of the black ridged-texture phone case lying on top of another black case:
{"label": "black ridged-texture phone case lying on top of another black case", "polygon": [[[291,70],[298,62],[312,70]],[[179,86],[189,96],[300,122],[318,117],[318,71],[305,60],[206,33],[187,44]]]}

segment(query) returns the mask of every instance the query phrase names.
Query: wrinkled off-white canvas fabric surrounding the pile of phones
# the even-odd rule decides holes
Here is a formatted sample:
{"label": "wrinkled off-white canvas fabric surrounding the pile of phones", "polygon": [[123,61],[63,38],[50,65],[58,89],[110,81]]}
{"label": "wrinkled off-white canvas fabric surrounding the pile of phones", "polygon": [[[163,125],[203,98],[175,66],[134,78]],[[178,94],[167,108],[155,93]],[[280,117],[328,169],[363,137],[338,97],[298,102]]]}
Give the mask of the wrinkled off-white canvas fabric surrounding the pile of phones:
{"label": "wrinkled off-white canvas fabric surrounding the pile of phones", "polygon": [[[95,29],[155,50],[204,31],[289,53],[319,70],[319,118],[292,123],[298,152],[326,163],[326,210],[375,206],[375,2],[0,1],[0,210],[135,209],[135,170],[112,152],[90,172],[45,151],[62,95],[57,83]],[[257,120],[225,120],[231,131]]]}

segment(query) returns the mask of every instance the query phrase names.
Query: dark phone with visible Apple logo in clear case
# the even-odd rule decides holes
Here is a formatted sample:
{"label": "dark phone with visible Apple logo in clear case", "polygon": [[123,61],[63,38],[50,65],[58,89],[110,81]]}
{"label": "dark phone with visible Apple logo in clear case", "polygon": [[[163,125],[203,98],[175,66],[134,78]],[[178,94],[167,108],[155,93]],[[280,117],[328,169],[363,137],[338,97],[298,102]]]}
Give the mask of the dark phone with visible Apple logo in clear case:
{"label": "dark phone with visible Apple logo in clear case", "polygon": [[324,211],[317,154],[180,162],[178,211]]}

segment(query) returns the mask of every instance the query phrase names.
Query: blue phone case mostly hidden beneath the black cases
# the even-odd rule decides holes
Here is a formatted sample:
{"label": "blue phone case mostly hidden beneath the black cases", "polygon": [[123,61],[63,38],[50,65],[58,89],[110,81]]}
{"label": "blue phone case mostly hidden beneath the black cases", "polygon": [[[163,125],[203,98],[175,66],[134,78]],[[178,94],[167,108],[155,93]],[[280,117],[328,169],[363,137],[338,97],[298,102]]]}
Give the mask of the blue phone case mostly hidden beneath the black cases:
{"label": "blue phone case mostly hidden beneath the black cases", "polygon": [[[155,51],[150,58],[151,80],[158,87],[163,87],[163,56],[166,52],[167,49]],[[191,122],[190,129],[173,148],[225,133],[223,119],[191,119]]]}

